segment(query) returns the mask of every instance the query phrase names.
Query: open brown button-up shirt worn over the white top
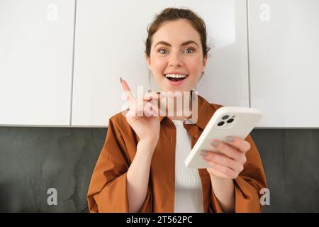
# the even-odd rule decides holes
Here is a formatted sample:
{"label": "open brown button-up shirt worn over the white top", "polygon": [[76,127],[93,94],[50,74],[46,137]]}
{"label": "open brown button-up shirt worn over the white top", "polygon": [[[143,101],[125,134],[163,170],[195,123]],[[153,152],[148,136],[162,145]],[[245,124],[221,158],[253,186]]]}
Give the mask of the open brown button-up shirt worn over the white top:
{"label": "open brown button-up shirt worn over the white top", "polygon": [[[215,111],[222,105],[209,104],[198,95],[198,120],[185,124],[193,148]],[[176,129],[166,116],[160,116],[159,140],[152,156],[147,196],[139,212],[174,212]],[[262,161],[250,135],[244,170],[234,179],[235,212],[260,212],[260,189],[266,187]],[[90,212],[128,212],[126,174],[133,161],[138,135],[123,113],[112,116],[106,140],[97,160],[89,185],[87,199]],[[184,162],[184,160],[181,160]],[[206,169],[198,169],[201,177],[204,212],[223,212],[212,191],[211,177]]]}

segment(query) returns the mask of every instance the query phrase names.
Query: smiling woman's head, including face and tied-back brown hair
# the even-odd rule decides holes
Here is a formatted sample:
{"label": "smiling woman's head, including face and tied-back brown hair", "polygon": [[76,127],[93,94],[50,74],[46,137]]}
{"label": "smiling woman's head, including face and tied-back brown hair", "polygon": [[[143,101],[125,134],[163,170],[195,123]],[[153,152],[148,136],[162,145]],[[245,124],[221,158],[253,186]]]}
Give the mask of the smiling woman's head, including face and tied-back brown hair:
{"label": "smiling woman's head, including face and tied-back brown hair", "polygon": [[147,29],[147,65],[162,91],[190,91],[206,67],[206,26],[191,11],[166,9]]}

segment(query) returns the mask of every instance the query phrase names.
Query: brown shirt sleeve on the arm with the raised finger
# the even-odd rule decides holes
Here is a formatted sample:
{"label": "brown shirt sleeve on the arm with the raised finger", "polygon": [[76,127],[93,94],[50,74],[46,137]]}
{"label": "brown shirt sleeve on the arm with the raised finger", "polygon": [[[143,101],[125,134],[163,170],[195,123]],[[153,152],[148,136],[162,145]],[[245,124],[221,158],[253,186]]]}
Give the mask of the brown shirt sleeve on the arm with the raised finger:
{"label": "brown shirt sleeve on the arm with the raised finger", "polygon": [[[106,140],[89,185],[87,201],[90,212],[129,211],[126,175],[130,160],[127,154],[121,131],[111,118]],[[150,192],[149,187],[146,199],[138,212],[150,212]]]}

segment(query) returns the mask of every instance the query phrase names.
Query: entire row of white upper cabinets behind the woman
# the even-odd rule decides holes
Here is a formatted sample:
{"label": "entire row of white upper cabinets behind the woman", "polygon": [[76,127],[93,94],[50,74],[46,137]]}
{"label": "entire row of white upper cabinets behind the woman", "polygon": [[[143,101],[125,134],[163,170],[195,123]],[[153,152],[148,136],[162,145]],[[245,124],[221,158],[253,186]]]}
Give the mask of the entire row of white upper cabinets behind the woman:
{"label": "entire row of white upper cabinets behind the woman", "polygon": [[0,0],[0,126],[107,126],[125,103],[120,76],[135,93],[157,89],[145,63],[147,25],[185,6],[215,45],[199,94],[261,109],[259,127],[319,127],[318,4]]}

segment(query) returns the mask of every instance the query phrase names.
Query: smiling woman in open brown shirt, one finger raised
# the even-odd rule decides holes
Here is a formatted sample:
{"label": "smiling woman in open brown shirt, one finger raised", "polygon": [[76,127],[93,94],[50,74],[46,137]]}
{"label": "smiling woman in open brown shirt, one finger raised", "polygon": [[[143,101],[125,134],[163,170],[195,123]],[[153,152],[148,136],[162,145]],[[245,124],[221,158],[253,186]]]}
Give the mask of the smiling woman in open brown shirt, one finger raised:
{"label": "smiling woman in open brown shirt, one finger raised", "polygon": [[[145,58],[162,92],[191,92],[203,75],[209,48],[205,23],[187,9],[164,9],[147,28]],[[177,78],[178,77],[178,78]],[[155,100],[135,99],[121,80],[130,109],[112,116],[87,199],[91,212],[259,212],[266,187],[262,161],[251,136],[212,141],[202,153],[208,169],[184,160],[214,112],[221,107],[198,96],[198,118],[156,116]],[[192,99],[190,99],[192,100]],[[142,104],[142,109],[138,109]],[[174,113],[179,106],[174,105]],[[152,115],[153,114],[153,115]]]}

